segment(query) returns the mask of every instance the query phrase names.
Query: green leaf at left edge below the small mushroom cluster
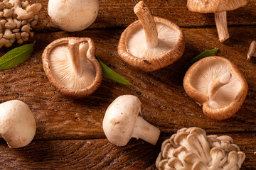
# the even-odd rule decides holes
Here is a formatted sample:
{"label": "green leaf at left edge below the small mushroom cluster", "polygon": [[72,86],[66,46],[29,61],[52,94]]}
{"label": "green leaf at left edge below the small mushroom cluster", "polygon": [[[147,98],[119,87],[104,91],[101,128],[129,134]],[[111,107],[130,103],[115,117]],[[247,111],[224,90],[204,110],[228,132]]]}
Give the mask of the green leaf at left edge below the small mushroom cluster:
{"label": "green leaf at left edge below the small mushroom cluster", "polygon": [[16,47],[3,55],[0,58],[0,70],[11,69],[12,67],[15,67],[16,65],[26,60],[26,58],[28,58],[28,56],[31,55],[31,52],[33,51],[34,43],[35,42],[33,42],[33,44]]}

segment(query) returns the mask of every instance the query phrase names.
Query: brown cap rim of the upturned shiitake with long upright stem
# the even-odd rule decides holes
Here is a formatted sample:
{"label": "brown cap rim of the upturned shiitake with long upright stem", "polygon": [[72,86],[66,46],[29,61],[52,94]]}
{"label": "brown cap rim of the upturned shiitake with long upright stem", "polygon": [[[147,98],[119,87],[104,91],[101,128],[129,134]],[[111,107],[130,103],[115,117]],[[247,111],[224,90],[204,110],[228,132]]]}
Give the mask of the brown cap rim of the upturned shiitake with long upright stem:
{"label": "brown cap rim of the upturned shiitake with long upright stem", "polygon": [[176,60],[178,60],[183,55],[185,50],[185,37],[181,28],[179,28],[175,23],[172,23],[171,21],[164,18],[155,16],[154,21],[156,23],[164,23],[166,26],[176,30],[176,32],[179,34],[177,44],[169,51],[155,57],[146,58],[135,57],[134,55],[127,52],[127,35],[129,35],[133,29],[136,29],[138,25],[141,25],[139,20],[135,21],[124,30],[117,47],[118,54],[122,60],[130,64],[132,67],[142,69],[145,72],[153,72],[157,69],[161,69],[168,66],[169,64],[176,62]]}

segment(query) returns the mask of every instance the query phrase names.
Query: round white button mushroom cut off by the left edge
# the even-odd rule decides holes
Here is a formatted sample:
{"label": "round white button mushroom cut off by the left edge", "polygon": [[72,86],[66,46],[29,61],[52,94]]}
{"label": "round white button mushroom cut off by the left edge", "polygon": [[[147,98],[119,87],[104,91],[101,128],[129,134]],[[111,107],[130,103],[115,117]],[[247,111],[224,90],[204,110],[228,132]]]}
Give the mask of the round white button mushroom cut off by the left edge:
{"label": "round white button mushroom cut off by the left edge", "polygon": [[13,100],[0,104],[0,134],[11,148],[25,147],[36,134],[36,121],[26,103]]}

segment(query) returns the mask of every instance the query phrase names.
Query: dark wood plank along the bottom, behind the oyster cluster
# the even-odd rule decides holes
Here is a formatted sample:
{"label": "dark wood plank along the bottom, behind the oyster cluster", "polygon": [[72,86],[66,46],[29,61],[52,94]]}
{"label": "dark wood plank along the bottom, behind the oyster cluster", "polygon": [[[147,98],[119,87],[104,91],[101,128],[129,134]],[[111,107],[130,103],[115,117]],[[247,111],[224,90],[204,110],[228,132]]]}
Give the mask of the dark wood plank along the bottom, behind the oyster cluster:
{"label": "dark wood plank along the bottom, behind the oyster cluster", "polygon": [[[255,134],[228,135],[246,154],[241,170],[254,169]],[[161,137],[156,146],[133,139],[125,147],[116,147],[107,140],[33,141],[21,149],[9,149],[0,143],[0,169],[156,169],[161,142],[167,138]]]}

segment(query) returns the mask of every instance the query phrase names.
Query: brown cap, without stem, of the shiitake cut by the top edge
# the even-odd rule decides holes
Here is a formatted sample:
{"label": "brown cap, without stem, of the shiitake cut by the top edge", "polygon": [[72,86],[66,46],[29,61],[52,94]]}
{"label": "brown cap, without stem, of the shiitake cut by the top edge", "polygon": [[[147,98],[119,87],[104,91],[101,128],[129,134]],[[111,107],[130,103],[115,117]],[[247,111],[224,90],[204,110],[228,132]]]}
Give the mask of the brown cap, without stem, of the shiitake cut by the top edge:
{"label": "brown cap, without stem, of the shiitake cut by the top edge", "polygon": [[233,11],[246,4],[247,0],[188,0],[187,2],[189,11],[199,13]]}

